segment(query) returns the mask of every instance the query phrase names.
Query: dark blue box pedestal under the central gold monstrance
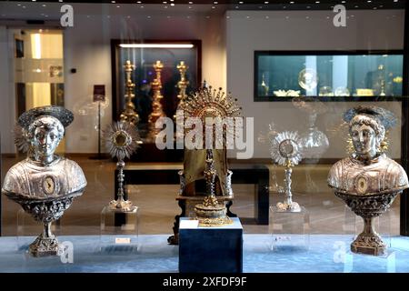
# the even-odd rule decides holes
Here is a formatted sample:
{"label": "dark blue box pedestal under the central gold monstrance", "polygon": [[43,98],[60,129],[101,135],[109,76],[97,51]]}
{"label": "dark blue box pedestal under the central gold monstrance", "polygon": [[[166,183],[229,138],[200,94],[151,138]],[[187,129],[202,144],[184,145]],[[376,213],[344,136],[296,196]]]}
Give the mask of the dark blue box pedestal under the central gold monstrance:
{"label": "dark blue box pedestal under the central gold monstrance", "polygon": [[243,272],[243,226],[237,217],[233,224],[218,227],[184,226],[179,228],[179,272]]}

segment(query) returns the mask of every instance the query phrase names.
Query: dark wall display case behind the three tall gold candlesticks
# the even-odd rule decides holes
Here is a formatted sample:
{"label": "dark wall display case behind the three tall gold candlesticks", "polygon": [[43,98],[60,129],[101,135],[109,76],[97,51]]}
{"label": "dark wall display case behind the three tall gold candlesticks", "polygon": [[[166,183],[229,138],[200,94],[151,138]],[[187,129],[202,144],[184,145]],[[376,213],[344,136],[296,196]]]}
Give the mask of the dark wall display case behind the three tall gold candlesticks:
{"label": "dark wall display case behind the three tall gold candlesticks", "polygon": [[125,69],[126,61],[134,65],[131,81],[135,84],[135,98],[133,99],[135,111],[139,115],[138,129],[141,137],[145,138],[148,131],[149,115],[153,111],[153,82],[157,77],[155,63],[162,63],[160,72],[161,105],[164,115],[175,115],[180,94],[178,82],[181,80],[178,65],[185,62],[185,79],[187,86],[185,94],[188,95],[198,86],[201,80],[201,41],[121,41],[112,40],[113,61],[113,116],[119,118],[125,109]]}

